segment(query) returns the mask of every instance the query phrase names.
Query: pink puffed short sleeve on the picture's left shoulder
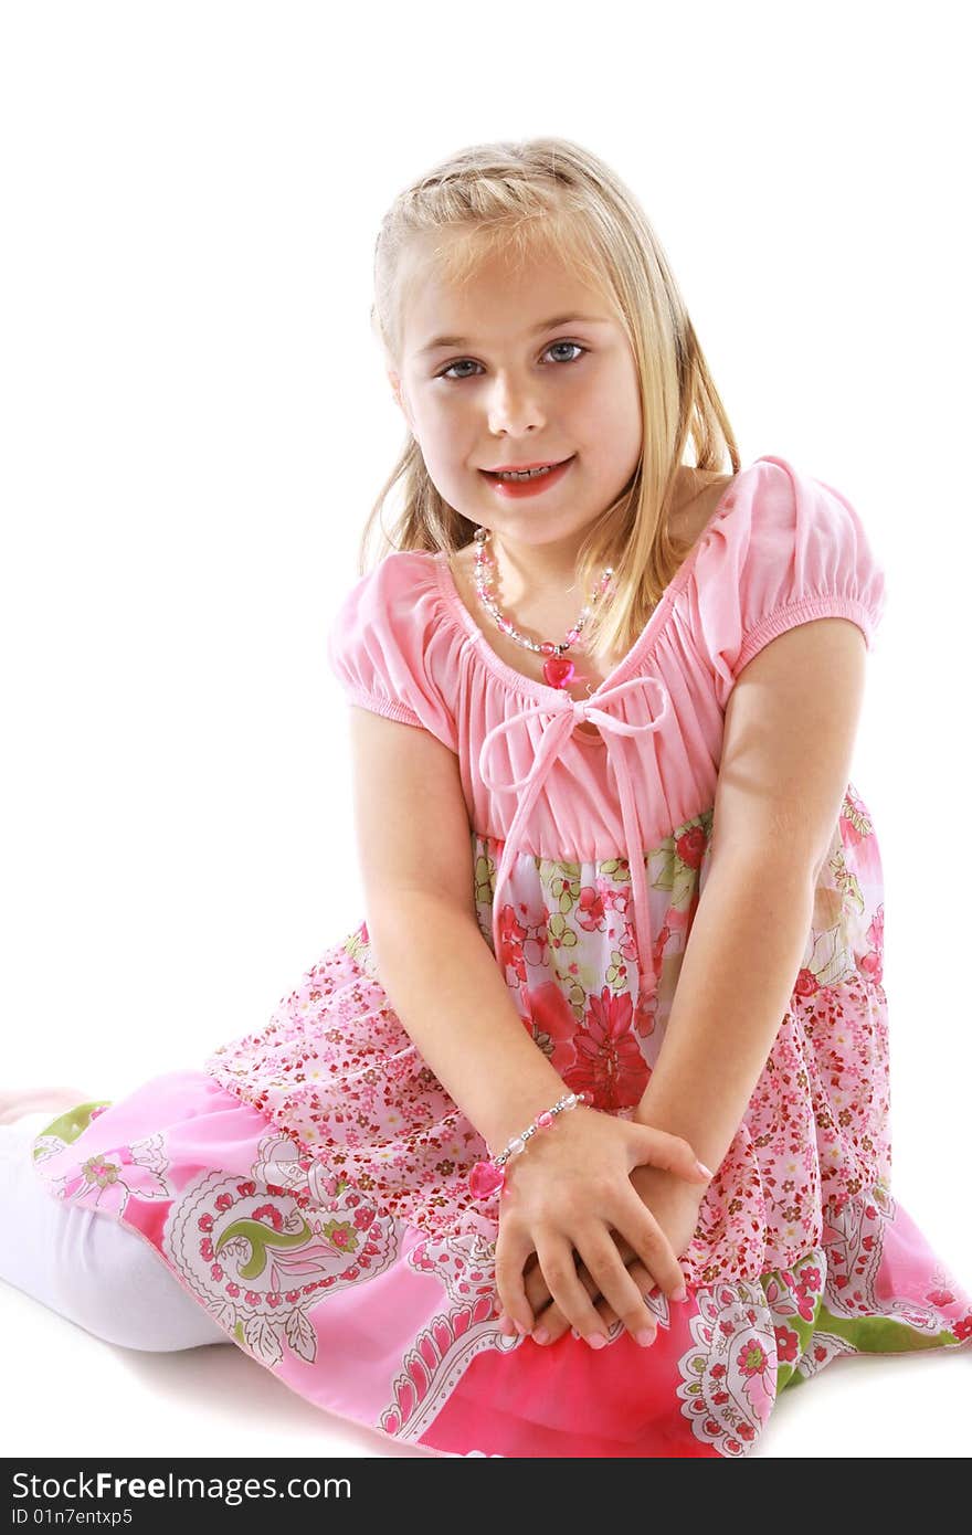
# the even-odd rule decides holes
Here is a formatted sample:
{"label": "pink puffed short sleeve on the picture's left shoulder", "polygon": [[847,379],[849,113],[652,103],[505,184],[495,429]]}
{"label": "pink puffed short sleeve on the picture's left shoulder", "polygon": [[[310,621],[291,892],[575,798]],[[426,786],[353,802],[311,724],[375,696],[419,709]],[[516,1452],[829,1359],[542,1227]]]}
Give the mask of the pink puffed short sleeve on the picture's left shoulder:
{"label": "pink puffed short sleeve on the picture's left shoulder", "polygon": [[327,660],[349,703],[427,729],[456,751],[455,718],[427,665],[438,605],[430,556],[393,551],[341,602]]}

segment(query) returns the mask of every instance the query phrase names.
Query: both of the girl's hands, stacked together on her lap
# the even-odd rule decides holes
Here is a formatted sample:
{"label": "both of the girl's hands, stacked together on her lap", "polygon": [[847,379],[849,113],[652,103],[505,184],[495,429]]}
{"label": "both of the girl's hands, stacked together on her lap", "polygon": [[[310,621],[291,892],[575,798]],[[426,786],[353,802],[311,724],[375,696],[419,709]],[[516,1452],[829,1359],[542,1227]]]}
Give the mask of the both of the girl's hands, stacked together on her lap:
{"label": "both of the girl's hands, stacked together on her lap", "polygon": [[679,1256],[708,1182],[680,1136],[593,1108],[534,1137],[507,1168],[499,1207],[496,1291],[508,1329],[542,1328],[556,1342],[573,1326],[607,1342],[605,1323],[620,1319],[651,1343],[645,1296],[657,1286],[685,1297]]}

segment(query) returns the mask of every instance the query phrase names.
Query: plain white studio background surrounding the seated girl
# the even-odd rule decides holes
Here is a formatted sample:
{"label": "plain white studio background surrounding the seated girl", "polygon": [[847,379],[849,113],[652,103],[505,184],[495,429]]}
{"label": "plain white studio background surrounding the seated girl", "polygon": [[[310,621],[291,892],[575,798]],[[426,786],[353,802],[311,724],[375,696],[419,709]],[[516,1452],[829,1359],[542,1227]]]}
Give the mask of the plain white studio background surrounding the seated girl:
{"label": "plain white studio background surrounding the seated girl", "polygon": [[[884,563],[852,781],[894,1193],[972,1286],[961,8],[0,17],[0,1087],[197,1067],[358,924],[324,639],[404,433],[375,235],[448,152],[557,134],[642,200],[743,465],[838,487]],[[388,1454],[232,1346],[126,1352],[9,1286],[0,1326],[6,1454]],[[970,1406],[967,1351],[838,1360],[757,1454],[958,1455]]]}

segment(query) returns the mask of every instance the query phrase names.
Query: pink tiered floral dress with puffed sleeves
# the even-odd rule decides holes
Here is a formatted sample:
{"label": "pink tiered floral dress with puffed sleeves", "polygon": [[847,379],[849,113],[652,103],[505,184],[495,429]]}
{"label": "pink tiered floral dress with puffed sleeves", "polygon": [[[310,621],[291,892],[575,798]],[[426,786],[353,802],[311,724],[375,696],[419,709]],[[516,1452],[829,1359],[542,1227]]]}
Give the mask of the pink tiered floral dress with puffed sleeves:
{"label": "pink tiered floral dress with puffed sleeves", "polygon": [[[456,752],[484,939],[567,1088],[631,1117],[705,889],[725,708],[828,614],[868,646],[884,580],[829,485],[745,468],[590,700],[498,659],[444,554],[361,577],[330,632],[349,700]],[[596,725],[594,735],[576,731]],[[321,1408],[445,1455],[746,1455],[838,1354],[958,1349],[972,1300],[891,1193],[883,887],[848,783],[792,995],[682,1266],[596,1352],[493,1319],[487,1147],[382,990],[365,923],[266,1027],[35,1141],[51,1194],[121,1220],[244,1352]],[[493,1196],[496,1200],[496,1196]]]}

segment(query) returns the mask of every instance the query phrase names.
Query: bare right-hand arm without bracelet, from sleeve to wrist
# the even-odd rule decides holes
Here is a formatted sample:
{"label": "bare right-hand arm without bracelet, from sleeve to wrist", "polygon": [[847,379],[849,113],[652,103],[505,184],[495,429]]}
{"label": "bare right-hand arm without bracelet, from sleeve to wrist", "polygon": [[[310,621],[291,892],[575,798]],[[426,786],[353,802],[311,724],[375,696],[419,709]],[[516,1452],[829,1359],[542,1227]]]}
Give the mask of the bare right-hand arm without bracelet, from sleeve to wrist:
{"label": "bare right-hand arm without bracelet, from sleeve to wrist", "polygon": [[851,771],[865,637],[815,619],[743,668],[725,717],[708,880],[634,1117],[717,1168],[795,984]]}

